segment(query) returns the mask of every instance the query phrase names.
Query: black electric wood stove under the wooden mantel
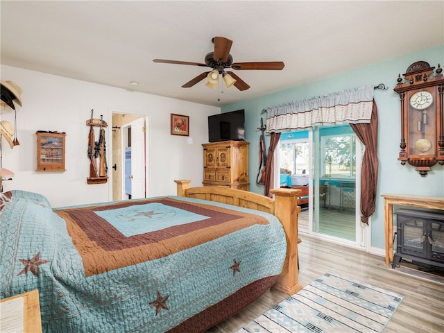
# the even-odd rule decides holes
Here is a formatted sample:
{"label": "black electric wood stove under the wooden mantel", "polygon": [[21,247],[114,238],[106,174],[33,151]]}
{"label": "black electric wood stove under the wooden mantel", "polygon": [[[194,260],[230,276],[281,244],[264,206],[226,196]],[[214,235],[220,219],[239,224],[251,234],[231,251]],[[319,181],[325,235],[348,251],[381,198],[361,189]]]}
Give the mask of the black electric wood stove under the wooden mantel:
{"label": "black electric wood stove under the wooden mantel", "polygon": [[397,210],[397,246],[392,268],[402,257],[444,267],[444,214]]}

